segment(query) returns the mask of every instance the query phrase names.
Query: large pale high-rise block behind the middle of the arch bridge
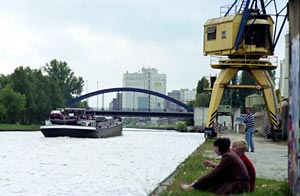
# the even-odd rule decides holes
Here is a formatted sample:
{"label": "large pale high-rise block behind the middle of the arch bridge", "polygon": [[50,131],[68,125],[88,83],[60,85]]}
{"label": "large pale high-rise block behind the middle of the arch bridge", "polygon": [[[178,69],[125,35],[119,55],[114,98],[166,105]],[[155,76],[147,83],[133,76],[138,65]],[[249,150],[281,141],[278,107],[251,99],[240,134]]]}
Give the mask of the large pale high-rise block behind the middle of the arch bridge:
{"label": "large pale high-rise block behind the middle of the arch bridge", "polygon": [[[123,74],[123,87],[147,89],[166,94],[166,74],[159,74],[157,69],[142,68],[135,73]],[[164,99],[137,92],[123,92],[123,110],[157,110],[164,109]]]}

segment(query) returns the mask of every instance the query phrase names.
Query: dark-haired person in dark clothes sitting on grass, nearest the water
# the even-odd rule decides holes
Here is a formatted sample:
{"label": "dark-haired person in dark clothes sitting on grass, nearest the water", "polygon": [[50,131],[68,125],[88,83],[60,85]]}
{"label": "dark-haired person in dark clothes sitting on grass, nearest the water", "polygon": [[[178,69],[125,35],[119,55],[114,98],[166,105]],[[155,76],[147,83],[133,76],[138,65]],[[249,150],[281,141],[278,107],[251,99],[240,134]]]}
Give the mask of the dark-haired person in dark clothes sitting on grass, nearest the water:
{"label": "dark-haired person in dark clothes sitting on grass, nearest the water", "polygon": [[250,178],[240,157],[230,150],[229,138],[218,138],[214,142],[217,155],[222,159],[208,174],[191,184],[180,182],[182,190],[204,190],[216,194],[236,194],[250,191]]}

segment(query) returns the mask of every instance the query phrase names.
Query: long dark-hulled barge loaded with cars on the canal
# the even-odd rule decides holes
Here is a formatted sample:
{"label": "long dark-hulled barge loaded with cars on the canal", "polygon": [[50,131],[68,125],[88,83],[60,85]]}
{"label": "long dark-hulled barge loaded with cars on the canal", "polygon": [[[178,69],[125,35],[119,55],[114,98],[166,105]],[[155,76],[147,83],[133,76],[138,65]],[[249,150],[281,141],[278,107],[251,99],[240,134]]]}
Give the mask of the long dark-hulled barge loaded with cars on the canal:
{"label": "long dark-hulled barge loaded with cars on the canal", "polygon": [[51,111],[40,127],[45,137],[107,138],[122,135],[121,118],[95,116],[83,108],[60,108]]}

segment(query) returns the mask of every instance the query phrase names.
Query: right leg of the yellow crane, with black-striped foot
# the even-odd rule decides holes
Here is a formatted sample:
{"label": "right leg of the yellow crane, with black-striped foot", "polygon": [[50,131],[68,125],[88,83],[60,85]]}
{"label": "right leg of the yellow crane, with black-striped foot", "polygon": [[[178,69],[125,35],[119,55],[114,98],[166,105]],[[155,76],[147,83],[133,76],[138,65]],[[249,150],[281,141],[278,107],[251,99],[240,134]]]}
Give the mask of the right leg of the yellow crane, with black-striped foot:
{"label": "right leg of the yellow crane, with black-striped foot", "polygon": [[250,69],[249,72],[256,82],[262,87],[261,90],[264,96],[267,113],[272,124],[272,137],[278,137],[281,135],[281,130],[279,130],[279,112],[277,108],[276,94],[274,91],[274,83],[267,70]]}

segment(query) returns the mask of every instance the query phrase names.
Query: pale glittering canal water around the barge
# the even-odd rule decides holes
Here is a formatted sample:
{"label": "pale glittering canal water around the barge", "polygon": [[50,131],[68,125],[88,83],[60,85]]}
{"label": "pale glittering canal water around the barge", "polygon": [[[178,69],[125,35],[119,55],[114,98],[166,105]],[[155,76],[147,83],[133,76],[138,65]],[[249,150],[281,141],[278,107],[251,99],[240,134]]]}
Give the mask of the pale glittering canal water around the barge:
{"label": "pale glittering canal water around the barge", "polygon": [[123,130],[106,139],[0,132],[6,196],[148,195],[200,144],[201,133]]}

